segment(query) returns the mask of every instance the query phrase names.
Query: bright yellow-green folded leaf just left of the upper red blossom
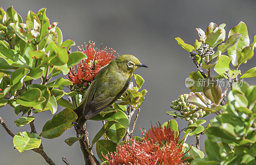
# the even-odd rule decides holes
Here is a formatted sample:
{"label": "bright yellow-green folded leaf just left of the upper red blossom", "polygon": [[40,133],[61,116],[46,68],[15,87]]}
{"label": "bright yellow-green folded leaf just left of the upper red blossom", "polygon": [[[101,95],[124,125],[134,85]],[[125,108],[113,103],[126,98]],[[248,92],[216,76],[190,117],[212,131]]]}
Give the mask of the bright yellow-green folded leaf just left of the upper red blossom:
{"label": "bright yellow-green folded leaf just left of the upper red blossom", "polygon": [[68,52],[66,47],[59,47],[56,46],[54,42],[51,42],[45,49],[45,52],[48,51],[50,51],[50,55],[49,57],[43,57],[40,67],[64,65],[68,62]]}

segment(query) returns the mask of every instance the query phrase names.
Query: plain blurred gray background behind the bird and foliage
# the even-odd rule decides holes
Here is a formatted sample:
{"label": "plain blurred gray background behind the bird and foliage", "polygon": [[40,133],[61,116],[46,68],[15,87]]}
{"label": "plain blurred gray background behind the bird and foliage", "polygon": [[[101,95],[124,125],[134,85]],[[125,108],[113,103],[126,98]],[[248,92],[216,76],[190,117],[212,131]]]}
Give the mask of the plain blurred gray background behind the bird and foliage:
{"label": "plain blurred gray background behind the bird and foliage", "polygon": [[[95,41],[96,46],[112,47],[120,55],[133,54],[149,68],[136,71],[145,79],[143,88],[148,90],[141,107],[139,119],[134,131],[140,136],[140,127],[148,129],[150,121],[155,125],[157,120],[164,123],[172,119],[166,115],[170,110],[170,102],[181,93],[188,93],[184,80],[189,72],[196,71],[196,66],[188,58],[187,51],[177,44],[175,37],[181,37],[186,43],[194,44],[198,39],[196,27],[205,28],[210,22],[218,25],[226,23],[227,34],[230,28],[244,21],[248,27],[251,42],[256,34],[255,7],[256,2],[239,0],[215,1],[82,1],[82,0],[1,0],[0,6],[6,9],[13,5],[14,9],[25,20],[29,10],[37,12],[46,7],[46,15],[50,22],[59,22],[64,40],[71,39],[76,45],[84,41]],[[73,51],[77,48],[74,46]],[[253,57],[240,67],[242,73],[255,66]],[[247,79],[255,85],[255,79]],[[58,112],[63,108],[59,107]],[[58,113],[57,112],[57,113]],[[13,121],[20,117],[15,115],[9,106],[0,109],[0,115],[9,128],[16,134],[18,131],[30,131],[29,127],[17,127]],[[50,111],[36,114],[37,132],[42,131],[46,121],[52,118]],[[214,115],[209,115],[212,118]],[[187,122],[177,118],[179,128],[186,127]],[[100,121],[88,121],[90,140],[101,128]],[[66,156],[72,165],[84,164],[79,143],[68,146],[64,140],[76,136],[73,128],[65,131],[56,139],[44,139],[45,152],[56,164],[64,164],[62,156]],[[0,164],[46,164],[41,155],[33,151],[19,153],[13,149],[12,138],[0,126]],[[201,149],[204,151],[204,139],[201,136]],[[189,144],[196,143],[190,137]],[[94,150],[95,152],[95,150]],[[96,152],[95,152],[96,154]]]}

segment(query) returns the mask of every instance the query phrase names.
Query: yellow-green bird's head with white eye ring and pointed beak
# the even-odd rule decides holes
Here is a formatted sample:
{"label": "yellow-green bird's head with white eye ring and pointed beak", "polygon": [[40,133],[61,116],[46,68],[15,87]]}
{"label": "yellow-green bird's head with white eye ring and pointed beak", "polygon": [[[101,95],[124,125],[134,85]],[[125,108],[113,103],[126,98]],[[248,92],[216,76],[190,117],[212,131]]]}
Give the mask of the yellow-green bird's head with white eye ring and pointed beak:
{"label": "yellow-green bird's head with white eye ring and pointed beak", "polygon": [[120,71],[131,74],[139,67],[148,66],[141,64],[140,60],[133,55],[122,55],[114,59],[111,63],[115,63]]}

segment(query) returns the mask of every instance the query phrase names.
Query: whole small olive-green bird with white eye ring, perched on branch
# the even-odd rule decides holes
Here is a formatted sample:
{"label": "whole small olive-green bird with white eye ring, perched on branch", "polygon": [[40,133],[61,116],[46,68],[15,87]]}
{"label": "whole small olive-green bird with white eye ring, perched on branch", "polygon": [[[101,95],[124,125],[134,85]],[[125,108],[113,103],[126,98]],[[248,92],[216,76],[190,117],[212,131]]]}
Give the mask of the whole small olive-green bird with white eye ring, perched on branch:
{"label": "whole small olive-green bird with white eye ring, perched on branch", "polygon": [[146,67],[133,55],[122,55],[103,67],[84,94],[84,99],[74,110],[78,126],[108,108],[127,90],[132,73],[139,67]]}

